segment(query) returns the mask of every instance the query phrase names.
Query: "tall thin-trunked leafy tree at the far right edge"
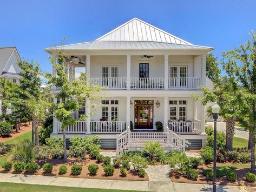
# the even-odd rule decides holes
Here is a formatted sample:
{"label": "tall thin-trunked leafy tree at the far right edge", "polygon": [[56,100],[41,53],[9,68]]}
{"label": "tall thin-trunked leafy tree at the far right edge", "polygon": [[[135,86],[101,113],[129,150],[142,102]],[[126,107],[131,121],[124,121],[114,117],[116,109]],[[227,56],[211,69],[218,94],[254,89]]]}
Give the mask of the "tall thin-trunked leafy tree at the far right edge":
{"label": "tall thin-trunked leafy tree at the far right edge", "polygon": [[240,48],[224,52],[222,66],[227,75],[231,77],[235,86],[241,85],[243,91],[239,92],[240,124],[249,130],[249,145],[251,149],[251,172],[255,171],[255,132],[256,132],[256,35],[250,33],[251,39]]}

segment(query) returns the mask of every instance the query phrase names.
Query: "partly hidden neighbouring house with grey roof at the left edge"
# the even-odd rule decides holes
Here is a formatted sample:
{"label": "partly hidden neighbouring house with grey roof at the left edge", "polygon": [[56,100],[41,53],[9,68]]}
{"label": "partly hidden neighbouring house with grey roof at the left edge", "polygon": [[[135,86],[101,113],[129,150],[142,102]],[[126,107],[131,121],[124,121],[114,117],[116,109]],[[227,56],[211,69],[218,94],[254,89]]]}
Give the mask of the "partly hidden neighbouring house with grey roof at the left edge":
{"label": "partly hidden neighbouring house with grey roof at the left edge", "polygon": [[[18,60],[20,60],[16,47],[0,48],[0,78],[6,78],[12,83],[19,83],[19,72],[21,68],[18,67]],[[0,109],[2,109],[2,95],[0,94]],[[0,114],[2,110],[0,110]]]}

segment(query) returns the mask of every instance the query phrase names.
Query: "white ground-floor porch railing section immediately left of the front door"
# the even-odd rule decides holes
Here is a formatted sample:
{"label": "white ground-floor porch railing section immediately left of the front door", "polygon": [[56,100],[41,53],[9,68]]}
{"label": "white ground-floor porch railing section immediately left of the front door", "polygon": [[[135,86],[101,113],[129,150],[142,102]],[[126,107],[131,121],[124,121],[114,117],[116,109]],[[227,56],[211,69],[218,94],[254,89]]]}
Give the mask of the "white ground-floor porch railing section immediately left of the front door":
{"label": "white ground-floor porch railing section immediately left of the front door", "polygon": [[126,122],[123,121],[91,121],[91,133],[115,134],[126,130]]}

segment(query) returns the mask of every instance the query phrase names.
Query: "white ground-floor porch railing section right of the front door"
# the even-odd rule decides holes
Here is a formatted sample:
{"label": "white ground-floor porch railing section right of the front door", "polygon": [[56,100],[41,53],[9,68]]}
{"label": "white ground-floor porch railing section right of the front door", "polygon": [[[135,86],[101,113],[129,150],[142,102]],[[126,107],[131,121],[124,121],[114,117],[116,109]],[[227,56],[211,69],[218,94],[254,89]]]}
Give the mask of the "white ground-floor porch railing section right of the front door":
{"label": "white ground-floor porch railing section right of the front door", "polygon": [[176,134],[199,134],[201,122],[180,121],[180,122],[167,122],[170,131]]}

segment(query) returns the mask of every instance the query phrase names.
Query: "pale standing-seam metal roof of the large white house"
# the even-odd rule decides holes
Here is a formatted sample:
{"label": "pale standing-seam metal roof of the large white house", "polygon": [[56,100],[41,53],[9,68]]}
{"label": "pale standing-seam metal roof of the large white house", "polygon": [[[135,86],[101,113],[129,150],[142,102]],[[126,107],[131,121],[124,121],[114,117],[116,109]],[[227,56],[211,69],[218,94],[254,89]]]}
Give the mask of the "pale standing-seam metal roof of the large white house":
{"label": "pale standing-seam metal roof of the large white house", "polygon": [[51,50],[213,50],[211,47],[193,45],[138,18],[122,24],[92,42],[62,45]]}

